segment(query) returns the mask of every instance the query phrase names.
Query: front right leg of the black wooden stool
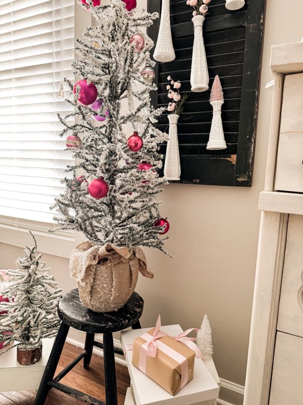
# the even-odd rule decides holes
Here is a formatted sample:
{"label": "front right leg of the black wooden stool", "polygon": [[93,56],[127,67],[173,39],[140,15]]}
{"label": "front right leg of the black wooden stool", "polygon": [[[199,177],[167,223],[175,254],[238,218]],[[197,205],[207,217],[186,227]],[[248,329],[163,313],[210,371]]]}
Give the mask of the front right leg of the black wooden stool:
{"label": "front right leg of the black wooden stool", "polygon": [[118,405],[113,334],[103,334],[106,405]]}

